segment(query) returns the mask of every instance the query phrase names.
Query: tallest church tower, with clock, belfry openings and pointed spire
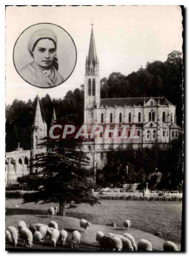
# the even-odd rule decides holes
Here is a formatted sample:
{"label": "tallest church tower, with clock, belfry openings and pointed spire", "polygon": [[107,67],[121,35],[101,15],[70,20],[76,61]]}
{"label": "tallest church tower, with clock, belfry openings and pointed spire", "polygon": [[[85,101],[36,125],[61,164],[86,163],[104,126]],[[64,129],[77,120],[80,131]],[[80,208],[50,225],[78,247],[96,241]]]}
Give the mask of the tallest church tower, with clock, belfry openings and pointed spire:
{"label": "tallest church tower, with clock, belfry openings and pointed spire", "polygon": [[97,109],[100,101],[99,62],[95,47],[93,24],[91,25],[89,53],[85,62],[84,124],[98,123]]}

